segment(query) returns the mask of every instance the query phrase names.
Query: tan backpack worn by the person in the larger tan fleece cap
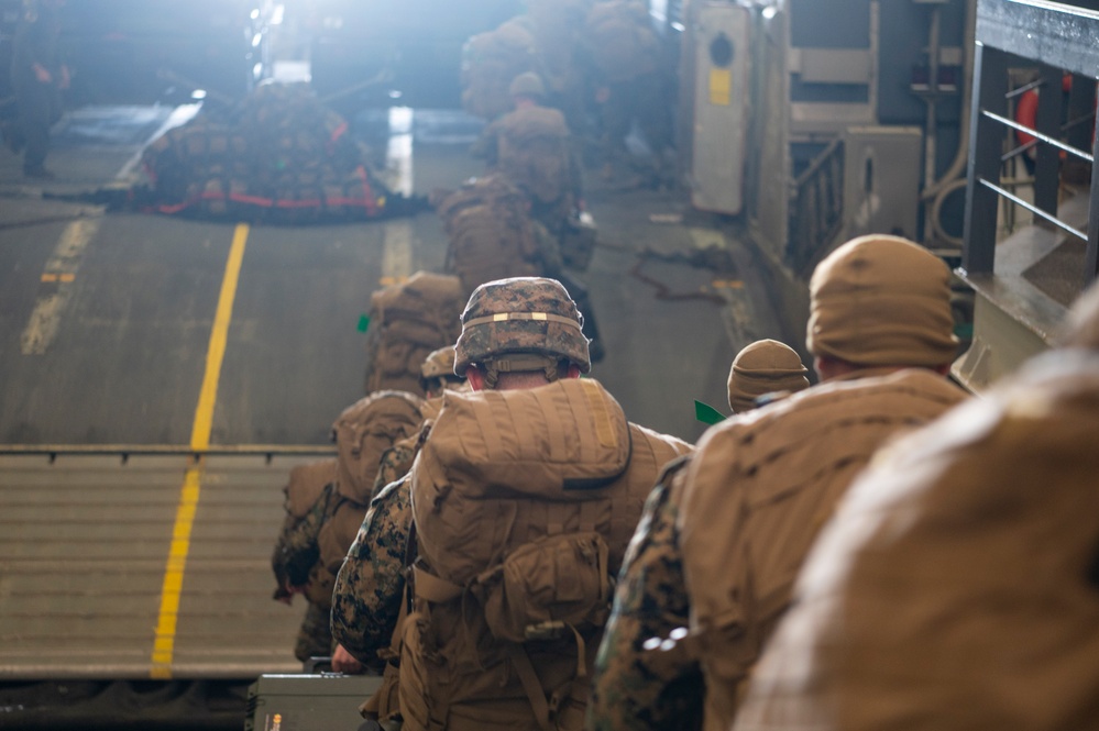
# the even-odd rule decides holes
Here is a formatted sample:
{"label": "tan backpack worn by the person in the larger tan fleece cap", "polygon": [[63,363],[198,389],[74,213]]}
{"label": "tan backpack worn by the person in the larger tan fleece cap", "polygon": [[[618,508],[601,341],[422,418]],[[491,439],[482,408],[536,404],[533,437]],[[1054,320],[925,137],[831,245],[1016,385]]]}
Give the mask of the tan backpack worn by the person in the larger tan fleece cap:
{"label": "tan backpack worn by the person in the larger tan fleece cap", "polygon": [[732,723],[802,563],[855,476],[887,440],[966,396],[909,368],[822,384],[706,433],[679,528],[707,730]]}

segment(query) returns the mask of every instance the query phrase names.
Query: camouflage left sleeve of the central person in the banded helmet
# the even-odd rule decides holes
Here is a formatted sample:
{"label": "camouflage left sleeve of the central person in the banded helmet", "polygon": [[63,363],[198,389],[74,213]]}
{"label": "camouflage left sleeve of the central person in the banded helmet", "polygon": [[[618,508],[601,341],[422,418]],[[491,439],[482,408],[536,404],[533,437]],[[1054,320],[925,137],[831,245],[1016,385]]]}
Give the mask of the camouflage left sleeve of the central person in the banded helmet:
{"label": "camouflage left sleeve of the central person in the banded helmet", "polygon": [[332,591],[332,635],[361,662],[376,664],[389,646],[405,590],[405,551],[413,524],[407,479],[371,502]]}

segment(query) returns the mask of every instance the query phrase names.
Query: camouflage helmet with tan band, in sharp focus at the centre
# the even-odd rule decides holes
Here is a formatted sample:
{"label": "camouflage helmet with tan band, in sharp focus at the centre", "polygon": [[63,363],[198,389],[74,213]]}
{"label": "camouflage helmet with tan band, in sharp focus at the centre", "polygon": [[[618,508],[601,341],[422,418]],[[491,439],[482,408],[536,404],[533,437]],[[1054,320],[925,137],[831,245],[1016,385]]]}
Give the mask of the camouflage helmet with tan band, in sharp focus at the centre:
{"label": "camouflage helmet with tan band, in sharp focus at the centre", "polygon": [[556,356],[592,369],[584,315],[557,279],[513,277],[481,285],[462,312],[454,373],[510,354]]}

